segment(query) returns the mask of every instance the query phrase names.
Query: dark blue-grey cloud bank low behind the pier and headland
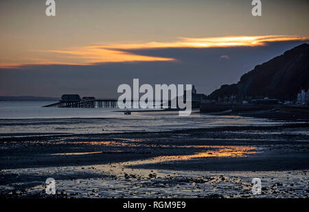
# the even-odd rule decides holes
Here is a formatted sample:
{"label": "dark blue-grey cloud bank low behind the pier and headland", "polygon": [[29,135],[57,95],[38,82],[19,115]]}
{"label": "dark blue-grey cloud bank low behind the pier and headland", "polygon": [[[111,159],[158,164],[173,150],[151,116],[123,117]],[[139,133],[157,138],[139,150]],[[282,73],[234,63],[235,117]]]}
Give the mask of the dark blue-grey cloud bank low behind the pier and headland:
{"label": "dark blue-grey cloud bank low behind the pier and headland", "polygon": [[269,43],[261,47],[130,49],[133,54],[175,58],[174,62],[117,62],[89,66],[35,65],[0,69],[0,95],[59,97],[79,93],[117,97],[117,86],[132,84],[195,84],[209,94],[222,84],[238,82],[255,65],[283,54],[304,41]]}

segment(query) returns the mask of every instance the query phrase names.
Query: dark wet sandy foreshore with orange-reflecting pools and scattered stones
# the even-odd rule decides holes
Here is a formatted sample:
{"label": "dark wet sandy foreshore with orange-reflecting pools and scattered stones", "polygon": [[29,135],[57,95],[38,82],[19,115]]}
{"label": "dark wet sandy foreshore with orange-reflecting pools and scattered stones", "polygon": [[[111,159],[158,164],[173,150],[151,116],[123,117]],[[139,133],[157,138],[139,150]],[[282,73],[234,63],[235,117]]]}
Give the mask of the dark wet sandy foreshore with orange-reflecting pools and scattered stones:
{"label": "dark wet sandy foreshore with orange-reflecting pools and scattered stones", "polygon": [[[5,198],[308,198],[309,123],[8,137]],[[261,178],[262,194],[251,192]]]}

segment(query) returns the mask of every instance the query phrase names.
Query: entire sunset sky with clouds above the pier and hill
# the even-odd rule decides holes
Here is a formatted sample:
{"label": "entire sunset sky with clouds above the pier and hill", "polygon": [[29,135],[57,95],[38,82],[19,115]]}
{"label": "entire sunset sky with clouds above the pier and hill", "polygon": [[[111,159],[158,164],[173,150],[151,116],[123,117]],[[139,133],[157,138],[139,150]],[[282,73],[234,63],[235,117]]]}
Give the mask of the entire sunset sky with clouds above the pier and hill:
{"label": "entire sunset sky with clouds above the pier and hill", "polygon": [[0,95],[116,97],[133,78],[209,94],[309,40],[309,1],[0,1]]}

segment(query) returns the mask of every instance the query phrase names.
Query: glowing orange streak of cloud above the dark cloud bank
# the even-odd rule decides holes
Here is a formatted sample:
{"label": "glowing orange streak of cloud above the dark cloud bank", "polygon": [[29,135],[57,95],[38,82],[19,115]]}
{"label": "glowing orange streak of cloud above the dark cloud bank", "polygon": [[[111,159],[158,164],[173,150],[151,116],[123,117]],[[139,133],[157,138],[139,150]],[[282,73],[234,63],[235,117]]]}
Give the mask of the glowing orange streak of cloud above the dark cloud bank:
{"label": "glowing orange streak of cloud above the dark cloud bank", "polygon": [[[211,38],[179,38],[173,42],[92,45],[58,50],[39,50],[39,58],[23,58],[23,62],[0,62],[0,68],[21,67],[25,64],[74,64],[91,65],[104,62],[174,61],[174,58],[132,54],[128,49],[155,48],[209,48],[209,47],[256,47],[270,42],[309,40],[300,36],[225,36]],[[24,62],[26,61],[26,62]]]}

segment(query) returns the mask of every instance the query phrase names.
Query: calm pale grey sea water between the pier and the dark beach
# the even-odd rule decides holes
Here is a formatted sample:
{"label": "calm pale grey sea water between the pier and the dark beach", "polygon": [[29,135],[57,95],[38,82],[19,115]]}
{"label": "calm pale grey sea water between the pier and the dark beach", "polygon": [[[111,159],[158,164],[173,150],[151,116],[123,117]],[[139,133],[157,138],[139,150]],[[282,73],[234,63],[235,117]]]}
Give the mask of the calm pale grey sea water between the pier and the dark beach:
{"label": "calm pale grey sea water between the pier and the dark beach", "polygon": [[278,122],[250,117],[178,112],[123,113],[115,108],[43,108],[53,102],[0,102],[0,136],[16,133],[108,133],[163,131],[213,126],[272,125]]}

